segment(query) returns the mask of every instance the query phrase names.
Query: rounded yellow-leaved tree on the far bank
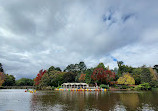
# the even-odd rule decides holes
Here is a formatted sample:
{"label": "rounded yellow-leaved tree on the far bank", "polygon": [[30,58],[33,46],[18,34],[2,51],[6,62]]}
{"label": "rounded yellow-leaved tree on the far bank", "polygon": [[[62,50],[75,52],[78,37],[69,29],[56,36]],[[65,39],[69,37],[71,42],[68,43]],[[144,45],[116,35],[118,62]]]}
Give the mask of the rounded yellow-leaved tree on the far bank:
{"label": "rounded yellow-leaved tree on the far bank", "polygon": [[129,73],[126,73],[126,74],[123,75],[123,77],[120,77],[117,80],[117,84],[134,85],[135,84],[135,80]]}

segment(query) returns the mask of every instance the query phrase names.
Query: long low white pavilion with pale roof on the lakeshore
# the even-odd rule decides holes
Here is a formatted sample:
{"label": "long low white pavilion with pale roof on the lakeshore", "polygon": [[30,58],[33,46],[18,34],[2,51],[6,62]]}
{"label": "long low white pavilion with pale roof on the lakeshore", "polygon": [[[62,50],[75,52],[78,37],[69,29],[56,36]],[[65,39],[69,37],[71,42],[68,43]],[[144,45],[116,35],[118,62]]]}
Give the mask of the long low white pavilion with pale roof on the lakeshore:
{"label": "long low white pavilion with pale roof on the lakeshore", "polygon": [[88,88],[87,83],[63,83],[62,88]]}

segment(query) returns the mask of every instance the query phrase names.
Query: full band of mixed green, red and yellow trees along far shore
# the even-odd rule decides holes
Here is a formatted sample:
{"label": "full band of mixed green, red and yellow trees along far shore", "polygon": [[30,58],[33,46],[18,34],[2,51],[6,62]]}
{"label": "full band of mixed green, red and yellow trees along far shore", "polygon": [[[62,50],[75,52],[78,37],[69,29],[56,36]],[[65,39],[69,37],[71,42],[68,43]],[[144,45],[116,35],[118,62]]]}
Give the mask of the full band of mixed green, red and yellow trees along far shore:
{"label": "full band of mixed green, red and yellow trees along far shore", "polygon": [[[94,85],[149,85],[158,88],[158,65],[154,67],[132,67],[118,61],[118,68],[109,69],[103,63],[96,67],[87,68],[84,62],[68,65],[63,71],[60,67],[51,66],[47,70],[40,70],[34,79],[21,78],[15,80],[13,75],[5,74],[0,63],[0,86],[31,86],[38,89],[44,87],[59,87],[65,82],[85,82]],[[142,86],[143,86],[142,85]],[[140,87],[142,87],[140,86]]]}

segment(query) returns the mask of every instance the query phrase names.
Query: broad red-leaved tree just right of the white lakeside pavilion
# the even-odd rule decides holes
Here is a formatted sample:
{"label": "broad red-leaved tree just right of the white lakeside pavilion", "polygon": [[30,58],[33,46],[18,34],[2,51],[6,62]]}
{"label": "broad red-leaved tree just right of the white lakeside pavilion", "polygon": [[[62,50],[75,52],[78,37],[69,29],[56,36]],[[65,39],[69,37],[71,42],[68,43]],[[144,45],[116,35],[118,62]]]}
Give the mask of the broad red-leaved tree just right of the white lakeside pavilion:
{"label": "broad red-leaved tree just right of the white lakeside pavilion", "polygon": [[107,84],[112,84],[115,79],[115,73],[110,70],[105,70],[104,68],[96,68],[91,75],[91,78],[95,81],[106,82]]}

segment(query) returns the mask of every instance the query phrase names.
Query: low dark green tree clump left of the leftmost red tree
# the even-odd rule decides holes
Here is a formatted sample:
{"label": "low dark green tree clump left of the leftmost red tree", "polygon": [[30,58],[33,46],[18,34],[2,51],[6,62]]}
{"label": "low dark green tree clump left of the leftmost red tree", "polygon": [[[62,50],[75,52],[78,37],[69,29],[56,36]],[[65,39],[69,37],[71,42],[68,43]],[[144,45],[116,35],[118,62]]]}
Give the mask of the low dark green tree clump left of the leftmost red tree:
{"label": "low dark green tree clump left of the leftmost red tree", "polygon": [[33,79],[29,78],[21,78],[19,80],[16,80],[17,86],[33,86]]}

